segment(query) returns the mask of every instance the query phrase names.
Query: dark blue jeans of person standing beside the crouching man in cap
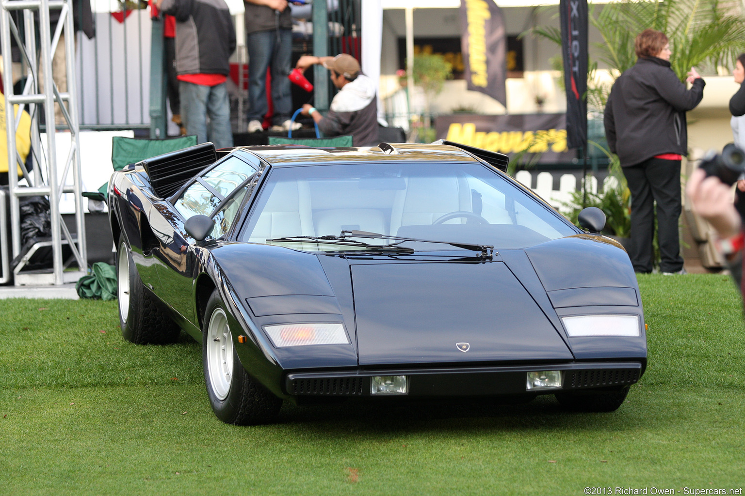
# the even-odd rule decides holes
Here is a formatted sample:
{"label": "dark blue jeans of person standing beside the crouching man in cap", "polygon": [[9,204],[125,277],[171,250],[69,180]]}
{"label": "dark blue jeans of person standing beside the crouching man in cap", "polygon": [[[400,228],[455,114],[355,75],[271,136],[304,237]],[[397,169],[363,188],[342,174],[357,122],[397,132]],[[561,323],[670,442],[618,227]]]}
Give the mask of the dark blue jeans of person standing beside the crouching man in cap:
{"label": "dark blue jeans of person standing beside the crouching man in cap", "polygon": [[282,124],[292,115],[292,93],[288,76],[292,62],[292,31],[280,29],[259,31],[246,35],[248,49],[248,105],[247,117],[264,120],[267,104],[267,68],[271,65],[272,123]]}

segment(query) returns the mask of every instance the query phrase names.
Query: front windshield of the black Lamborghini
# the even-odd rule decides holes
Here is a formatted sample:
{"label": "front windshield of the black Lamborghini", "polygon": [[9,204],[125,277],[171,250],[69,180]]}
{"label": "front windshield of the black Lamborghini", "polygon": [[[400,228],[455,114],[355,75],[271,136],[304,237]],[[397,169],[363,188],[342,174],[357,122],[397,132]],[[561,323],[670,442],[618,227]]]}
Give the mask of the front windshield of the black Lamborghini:
{"label": "front windshield of the black Lamborghini", "polygon": [[[444,242],[525,248],[577,233],[521,187],[476,162],[277,167],[261,186],[243,241],[308,251],[349,248],[293,236],[370,231]],[[387,239],[364,239],[387,244]],[[447,245],[403,242],[414,250]]]}

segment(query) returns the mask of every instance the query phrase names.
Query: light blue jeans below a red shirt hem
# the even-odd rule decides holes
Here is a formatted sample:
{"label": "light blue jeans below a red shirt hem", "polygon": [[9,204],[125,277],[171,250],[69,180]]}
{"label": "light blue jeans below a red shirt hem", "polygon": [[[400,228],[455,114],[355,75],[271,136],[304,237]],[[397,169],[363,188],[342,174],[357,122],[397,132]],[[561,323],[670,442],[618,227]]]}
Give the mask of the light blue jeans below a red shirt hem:
{"label": "light blue jeans below a red shirt hem", "polygon": [[202,86],[179,81],[181,120],[197,143],[212,141],[215,148],[232,146],[230,100],[226,83]]}

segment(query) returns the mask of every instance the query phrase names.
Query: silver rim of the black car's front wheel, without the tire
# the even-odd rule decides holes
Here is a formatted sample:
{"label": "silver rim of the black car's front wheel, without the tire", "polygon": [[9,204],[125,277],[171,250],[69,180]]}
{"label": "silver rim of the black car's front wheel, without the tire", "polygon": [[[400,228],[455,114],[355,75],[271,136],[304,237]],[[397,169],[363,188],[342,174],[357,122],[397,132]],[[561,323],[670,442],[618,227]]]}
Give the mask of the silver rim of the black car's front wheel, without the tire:
{"label": "silver rim of the black car's front wheel, without the tire", "polygon": [[221,308],[216,308],[207,327],[207,373],[215,396],[226,399],[232,381],[233,350],[228,319]]}

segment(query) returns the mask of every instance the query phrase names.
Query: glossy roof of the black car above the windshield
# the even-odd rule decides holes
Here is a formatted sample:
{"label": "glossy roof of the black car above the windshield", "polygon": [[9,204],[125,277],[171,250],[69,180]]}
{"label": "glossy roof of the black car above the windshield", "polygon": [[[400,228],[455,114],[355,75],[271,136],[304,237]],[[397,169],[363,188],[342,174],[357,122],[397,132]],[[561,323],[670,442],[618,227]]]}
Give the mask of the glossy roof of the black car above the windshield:
{"label": "glossy roof of the black car above the windshield", "polygon": [[316,148],[298,145],[236,146],[232,152],[250,152],[273,166],[314,166],[350,162],[462,162],[478,161],[456,146],[441,144],[381,143],[378,146]]}

